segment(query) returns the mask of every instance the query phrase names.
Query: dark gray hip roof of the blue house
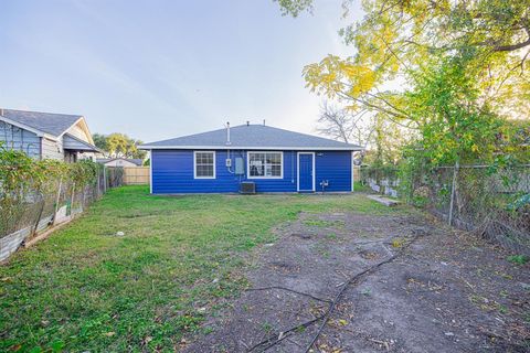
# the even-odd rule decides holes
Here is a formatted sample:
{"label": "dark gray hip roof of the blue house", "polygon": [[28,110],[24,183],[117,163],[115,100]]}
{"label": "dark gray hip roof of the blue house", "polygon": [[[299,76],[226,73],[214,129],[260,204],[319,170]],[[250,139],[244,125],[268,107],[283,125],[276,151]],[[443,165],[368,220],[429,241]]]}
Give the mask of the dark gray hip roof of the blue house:
{"label": "dark gray hip roof of the blue house", "polygon": [[227,130],[219,129],[169,140],[150,142],[141,149],[263,149],[263,150],[348,150],[363,148],[317,136],[288,131],[264,125],[240,125]]}

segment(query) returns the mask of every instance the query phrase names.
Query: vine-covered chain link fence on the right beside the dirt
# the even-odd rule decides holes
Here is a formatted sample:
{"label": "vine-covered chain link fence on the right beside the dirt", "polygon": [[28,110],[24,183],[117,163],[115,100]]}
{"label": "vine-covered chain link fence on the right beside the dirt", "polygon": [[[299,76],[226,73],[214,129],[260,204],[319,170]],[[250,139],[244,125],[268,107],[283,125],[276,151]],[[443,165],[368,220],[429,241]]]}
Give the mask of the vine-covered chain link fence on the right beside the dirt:
{"label": "vine-covered chain link fence on the right beside the dirt", "polygon": [[425,207],[458,228],[530,255],[530,165],[442,167],[402,180],[396,168],[365,168],[372,190]]}

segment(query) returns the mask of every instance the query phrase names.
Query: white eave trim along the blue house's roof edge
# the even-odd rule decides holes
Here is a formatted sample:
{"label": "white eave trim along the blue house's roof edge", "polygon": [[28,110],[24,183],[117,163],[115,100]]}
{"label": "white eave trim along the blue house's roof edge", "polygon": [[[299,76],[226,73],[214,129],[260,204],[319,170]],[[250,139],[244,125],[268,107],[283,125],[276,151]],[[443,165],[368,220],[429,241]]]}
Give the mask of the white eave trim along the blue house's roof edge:
{"label": "white eave trim along the blue house's roof edge", "polygon": [[362,147],[139,146],[140,150],[362,151]]}

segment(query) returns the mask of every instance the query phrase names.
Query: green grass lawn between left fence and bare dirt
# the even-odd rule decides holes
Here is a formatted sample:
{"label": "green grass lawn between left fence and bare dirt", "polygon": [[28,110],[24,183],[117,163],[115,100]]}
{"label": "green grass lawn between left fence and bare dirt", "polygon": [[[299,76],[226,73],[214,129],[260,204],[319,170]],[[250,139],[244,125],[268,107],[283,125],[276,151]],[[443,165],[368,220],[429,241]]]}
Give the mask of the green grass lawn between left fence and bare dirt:
{"label": "green grass lawn between left fence and bare dirt", "polygon": [[0,351],[173,350],[239,293],[247,255],[300,211],[395,212],[362,195],[112,190],[0,266]]}

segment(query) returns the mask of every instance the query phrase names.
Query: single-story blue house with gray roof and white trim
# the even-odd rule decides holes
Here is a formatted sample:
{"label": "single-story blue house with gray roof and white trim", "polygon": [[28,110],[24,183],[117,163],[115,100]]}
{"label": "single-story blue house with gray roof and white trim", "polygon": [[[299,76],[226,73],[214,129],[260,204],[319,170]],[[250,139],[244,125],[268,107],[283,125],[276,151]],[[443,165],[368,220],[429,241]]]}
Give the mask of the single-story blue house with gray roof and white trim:
{"label": "single-story blue house with gray roof and white trim", "polygon": [[151,193],[350,192],[361,147],[265,125],[146,143]]}

